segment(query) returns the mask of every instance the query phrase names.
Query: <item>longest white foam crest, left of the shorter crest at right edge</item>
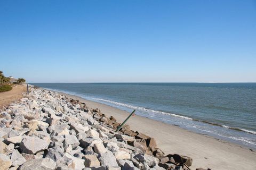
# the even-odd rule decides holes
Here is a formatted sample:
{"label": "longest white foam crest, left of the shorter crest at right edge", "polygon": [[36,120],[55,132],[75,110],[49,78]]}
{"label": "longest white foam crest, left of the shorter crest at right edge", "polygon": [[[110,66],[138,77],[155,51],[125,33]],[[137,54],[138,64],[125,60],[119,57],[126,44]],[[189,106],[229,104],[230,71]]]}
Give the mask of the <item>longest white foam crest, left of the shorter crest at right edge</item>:
{"label": "longest white foam crest, left of the shorter crest at right edge", "polygon": [[148,109],[148,108],[145,108],[145,107],[139,107],[139,106],[133,106],[133,105],[129,105],[129,104],[123,104],[123,103],[119,103],[119,102],[116,102],[116,101],[111,101],[111,100],[106,100],[106,99],[101,99],[101,98],[92,98],[92,99],[98,100],[98,101],[105,101],[107,103],[111,103],[111,104],[118,105],[118,106],[128,107],[128,108],[132,108],[132,109],[138,109],[140,111],[151,112],[151,113],[158,113],[158,114],[165,114],[165,115],[171,115],[171,116],[175,116],[175,117],[185,118],[187,120],[193,120],[193,118],[190,118],[190,117],[181,116],[181,115],[177,115],[177,114],[173,114],[173,113],[155,111],[153,109]]}

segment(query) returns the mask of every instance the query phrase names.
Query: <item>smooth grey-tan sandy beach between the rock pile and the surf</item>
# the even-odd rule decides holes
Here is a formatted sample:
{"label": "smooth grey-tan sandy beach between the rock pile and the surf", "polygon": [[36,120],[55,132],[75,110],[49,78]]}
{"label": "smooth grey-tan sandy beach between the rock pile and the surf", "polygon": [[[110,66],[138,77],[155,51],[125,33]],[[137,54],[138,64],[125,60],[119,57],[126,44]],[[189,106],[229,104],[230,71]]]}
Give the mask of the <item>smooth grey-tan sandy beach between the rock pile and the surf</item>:
{"label": "smooth grey-tan sandy beach between the rock pile and the surf", "polygon": [[[63,93],[60,93],[63,94]],[[83,98],[66,95],[85,102],[87,107],[99,108],[108,117],[114,116],[118,122],[123,122],[129,113],[120,109],[100,104]],[[134,131],[154,137],[159,148],[165,154],[181,154],[193,158],[191,169],[198,167],[211,169],[256,169],[256,152],[248,148],[223,140],[197,134],[178,126],[151,120],[135,115],[127,122]]]}

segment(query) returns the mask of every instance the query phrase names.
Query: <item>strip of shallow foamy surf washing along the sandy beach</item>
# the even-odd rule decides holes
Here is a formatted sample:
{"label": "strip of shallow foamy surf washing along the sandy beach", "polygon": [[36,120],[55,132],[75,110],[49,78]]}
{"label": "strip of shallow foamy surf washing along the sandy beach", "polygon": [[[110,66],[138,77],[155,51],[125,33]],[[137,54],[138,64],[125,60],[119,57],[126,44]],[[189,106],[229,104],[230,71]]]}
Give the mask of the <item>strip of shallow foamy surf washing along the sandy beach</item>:
{"label": "strip of shallow foamy surf washing along the sandy beach", "polygon": [[[145,106],[137,106],[136,104],[131,105],[131,104],[119,103],[118,101],[115,101],[115,100],[113,101],[111,99],[110,100],[104,99],[104,98],[94,99],[93,97],[87,97],[82,94],[76,94],[76,92],[72,92],[72,91],[65,91],[65,90],[58,90],[58,89],[51,89],[51,88],[45,88],[45,89],[56,91],[56,92],[62,92],[63,94],[68,94],[68,95],[75,95],[85,100],[94,101],[100,104],[106,104],[108,106],[115,107],[126,112],[132,112],[133,109],[136,109],[137,114],[142,117],[148,117],[159,122],[164,122],[167,124],[179,126],[180,128],[186,129],[193,133],[209,135],[212,138],[217,138],[219,140],[223,140],[226,142],[235,143],[239,146],[256,151],[256,145],[255,145],[256,131],[250,130],[250,128],[248,130],[243,128],[237,128],[236,126],[231,126],[227,124],[212,123],[204,119],[201,120],[197,118],[191,118],[191,117],[188,117],[187,115],[182,115],[175,112],[162,111],[161,109],[154,110],[154,109],[147,108]],[[149,112],[149,114],[147,112]],[[159,114],[155,114],[155,113],[159,113]],[[169,119],[169,117],[167,117],[166,115],[171,115],[172,118]],[[180,118],[180,120],[176,120],[177,117],[178,119]]]}

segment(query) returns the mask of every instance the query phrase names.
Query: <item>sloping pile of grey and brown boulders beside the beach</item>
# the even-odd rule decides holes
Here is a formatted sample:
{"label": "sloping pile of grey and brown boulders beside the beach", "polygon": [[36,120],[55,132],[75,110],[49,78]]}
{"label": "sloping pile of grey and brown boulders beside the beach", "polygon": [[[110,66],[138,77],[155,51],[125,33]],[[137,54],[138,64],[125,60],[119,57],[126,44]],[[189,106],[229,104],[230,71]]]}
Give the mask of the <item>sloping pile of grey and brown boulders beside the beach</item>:
{"label": "sloping pile of grey and brown boulders beside the beach", "polygon": [[0,112],[0,169],[189,169],[190,157],[165,155],[156,140],[99,109],[56,92],[30,94]]}

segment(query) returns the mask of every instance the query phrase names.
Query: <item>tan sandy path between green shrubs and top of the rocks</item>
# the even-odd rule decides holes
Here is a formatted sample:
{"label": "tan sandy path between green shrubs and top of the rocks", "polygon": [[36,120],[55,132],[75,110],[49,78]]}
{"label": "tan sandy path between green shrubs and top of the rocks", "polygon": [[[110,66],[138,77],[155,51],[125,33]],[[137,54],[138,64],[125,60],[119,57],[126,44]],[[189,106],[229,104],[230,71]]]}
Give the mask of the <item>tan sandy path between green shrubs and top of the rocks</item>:
{"label": "tan sandy path between green shrubs and top of the rocks", "polygon": [[0,92],[0,108],[22,98],[22,92],[25,90],[26,86],[14,85],[10,91]]}

